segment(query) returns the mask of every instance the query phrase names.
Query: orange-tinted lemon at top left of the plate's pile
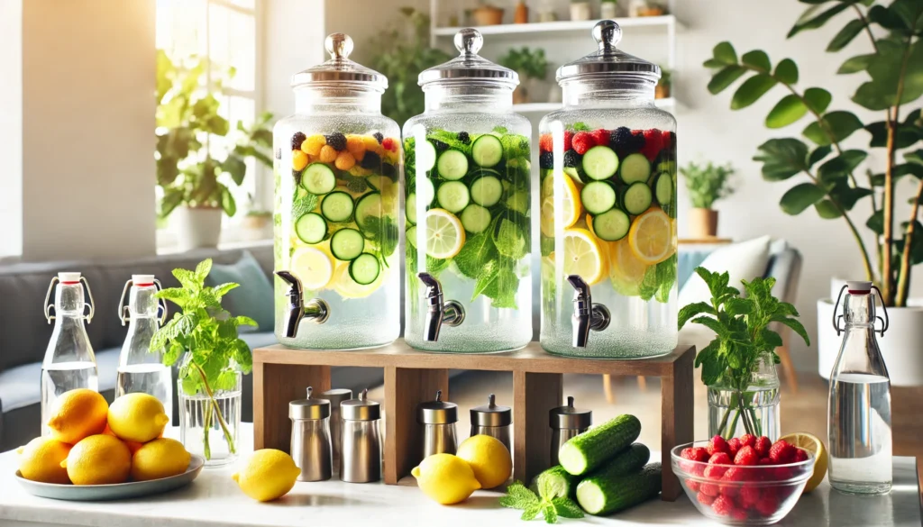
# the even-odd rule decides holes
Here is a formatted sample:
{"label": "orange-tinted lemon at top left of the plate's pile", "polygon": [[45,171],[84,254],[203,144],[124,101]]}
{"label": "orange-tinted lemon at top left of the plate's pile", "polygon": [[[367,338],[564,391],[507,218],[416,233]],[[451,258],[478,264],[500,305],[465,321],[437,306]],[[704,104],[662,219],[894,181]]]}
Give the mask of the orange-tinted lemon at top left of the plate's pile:
{"label": "orange-tinted lemon at top left of the plate's pile", "polygon": [[71,389],[54,401],[47,425],[52,437],[76,445],[84,437],[102,433],[108,409],[106,400],[92,389]]}

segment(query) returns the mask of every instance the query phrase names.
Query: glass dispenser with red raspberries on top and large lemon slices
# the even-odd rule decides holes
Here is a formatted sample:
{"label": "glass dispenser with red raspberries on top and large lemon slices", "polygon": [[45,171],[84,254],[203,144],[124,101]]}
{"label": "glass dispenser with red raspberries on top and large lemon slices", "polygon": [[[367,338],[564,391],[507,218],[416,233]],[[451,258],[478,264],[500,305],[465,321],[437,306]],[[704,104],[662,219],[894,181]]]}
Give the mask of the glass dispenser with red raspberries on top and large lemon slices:
{"label": "glass dispenser with red raspberries on top and large lemon slices", "polygon": [[564,107],[539,126],[542,346],[663,355],[677,345],[676,120],[653,104],[660,68],[616,49],[616,22],[593,38],[558,68]]}

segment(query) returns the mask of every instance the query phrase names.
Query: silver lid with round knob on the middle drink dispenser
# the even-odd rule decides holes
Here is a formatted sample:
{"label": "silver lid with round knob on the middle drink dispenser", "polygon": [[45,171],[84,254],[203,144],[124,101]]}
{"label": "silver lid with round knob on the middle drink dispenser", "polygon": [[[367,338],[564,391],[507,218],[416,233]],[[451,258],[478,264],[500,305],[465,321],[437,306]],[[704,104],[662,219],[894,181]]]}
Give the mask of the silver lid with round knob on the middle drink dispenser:
{"label": "silver lid with round knob on the middle drink dispenser", "polygon": [[509,69],[509,67],[499,66],[485,59],[477,52],[481,51],[484,45],[484,37],[481,31],[474,28],[464,28],[455,33],[455,49],[459,51],[459,56],[453,58],[447,63],[433,66],[420,73],[417,82],[420,86],[437,81],[460,80],[470,81],[471,79],[490,79],[497,80],[500,83],[509,85],[512,90],[519,85],[519,74]]}

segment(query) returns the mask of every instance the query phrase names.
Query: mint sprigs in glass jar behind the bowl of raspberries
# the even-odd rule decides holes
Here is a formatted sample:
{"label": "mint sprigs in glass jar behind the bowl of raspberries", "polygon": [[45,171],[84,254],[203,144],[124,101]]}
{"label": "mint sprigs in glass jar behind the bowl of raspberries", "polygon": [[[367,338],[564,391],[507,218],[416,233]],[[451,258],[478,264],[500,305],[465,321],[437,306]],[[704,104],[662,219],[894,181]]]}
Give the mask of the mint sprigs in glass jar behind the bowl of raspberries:
{"label": "mint sprigs in glass jar behind the bowl of raspberries", "polygon": [[775,279],[742,281],[746,296],[731,287],[727,272],[695,269],[708,285],[710,302],[679,310],[679,329],[687,322],[701,324],[715,337],[696,355],[701,381],[708,386],[708,435],[731,438],[743,434],[779,436],[779,377],[775,348],[783,344],[774,329],[780,325],[810,345],[794,305],[773,296]]}

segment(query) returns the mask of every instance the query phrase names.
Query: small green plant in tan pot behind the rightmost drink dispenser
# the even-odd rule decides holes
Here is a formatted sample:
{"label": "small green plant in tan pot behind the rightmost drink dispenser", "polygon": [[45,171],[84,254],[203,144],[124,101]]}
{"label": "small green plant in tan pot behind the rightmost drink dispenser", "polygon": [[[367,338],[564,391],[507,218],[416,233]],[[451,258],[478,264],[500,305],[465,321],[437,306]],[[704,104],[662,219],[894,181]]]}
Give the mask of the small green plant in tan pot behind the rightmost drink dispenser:
{"label": "small green plant in tan pot behind the rightmost drink dispenser", "polygon": [[718,234],[718,211],[714,202],[734,194],[732,177],[734,167],[708,162],[704,166],[689,162],[679,169],[686,180],[692,209],[687,214],[689,235],[693,238],[708,238]]}

